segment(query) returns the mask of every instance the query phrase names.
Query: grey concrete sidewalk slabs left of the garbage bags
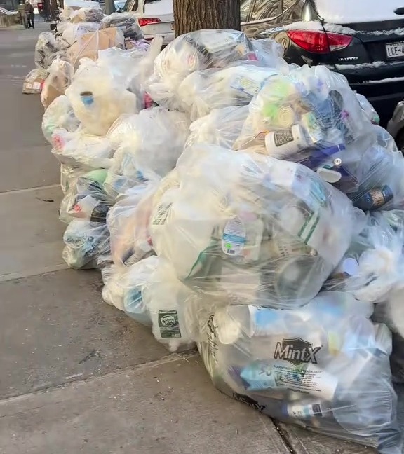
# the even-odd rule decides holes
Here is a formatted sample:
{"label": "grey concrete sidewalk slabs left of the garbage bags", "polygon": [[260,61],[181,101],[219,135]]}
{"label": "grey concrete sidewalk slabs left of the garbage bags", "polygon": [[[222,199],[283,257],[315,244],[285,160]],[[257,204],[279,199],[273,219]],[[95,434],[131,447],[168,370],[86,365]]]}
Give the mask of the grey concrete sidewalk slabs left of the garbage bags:
{"label": "grey concrete sidewalk slabs left of the garbage bags", "polygon": [[66,269],[58,164],[22,95],[37,28],[0,31],[0,453],[373,452],[225,397],[198,355],[103,303],[99,273]]}

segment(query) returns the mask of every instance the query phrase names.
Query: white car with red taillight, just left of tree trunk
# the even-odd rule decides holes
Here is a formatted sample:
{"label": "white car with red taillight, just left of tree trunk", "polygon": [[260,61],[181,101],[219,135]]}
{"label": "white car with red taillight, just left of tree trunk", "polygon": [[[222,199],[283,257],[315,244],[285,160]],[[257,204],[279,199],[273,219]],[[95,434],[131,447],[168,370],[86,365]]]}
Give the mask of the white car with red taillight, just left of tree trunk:
{"label": "white car with red taillight, just left of tree trunk", "polygon": [[166,45],[175,38],[173,0],[128,0],[124,10],[137,15],[144,39],[160,35]]}

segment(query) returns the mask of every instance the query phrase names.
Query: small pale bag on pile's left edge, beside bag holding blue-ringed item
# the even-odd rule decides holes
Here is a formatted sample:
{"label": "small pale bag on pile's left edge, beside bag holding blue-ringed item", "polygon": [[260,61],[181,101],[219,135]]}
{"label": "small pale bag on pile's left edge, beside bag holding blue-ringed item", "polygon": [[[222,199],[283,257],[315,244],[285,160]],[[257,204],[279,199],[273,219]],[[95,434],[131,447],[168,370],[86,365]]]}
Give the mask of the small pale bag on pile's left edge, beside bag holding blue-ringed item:
{"label": "small pale bag on pile's left edge, beside bag holding blue-ringed item", "polygon": [[42,117],[42,132],[45,139],[52,144],[55,130],[74,132],[79,128],[79,120],[74,115],[72,104],[65,95],[57,97],[50,103]]}

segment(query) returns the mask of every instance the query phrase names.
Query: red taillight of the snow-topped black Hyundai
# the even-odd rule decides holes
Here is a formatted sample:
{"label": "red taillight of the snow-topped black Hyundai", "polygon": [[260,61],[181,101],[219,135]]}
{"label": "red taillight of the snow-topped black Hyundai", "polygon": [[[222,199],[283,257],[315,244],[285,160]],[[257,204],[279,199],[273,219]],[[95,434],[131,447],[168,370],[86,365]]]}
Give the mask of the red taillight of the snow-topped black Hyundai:
{"label": "red taillight of the snow-topped black Hyundai", "polygon": [[352,42],[352,36],[310,30],[288,30],[289,38],[304,50],[312,53],[328,53],[342,50]]}

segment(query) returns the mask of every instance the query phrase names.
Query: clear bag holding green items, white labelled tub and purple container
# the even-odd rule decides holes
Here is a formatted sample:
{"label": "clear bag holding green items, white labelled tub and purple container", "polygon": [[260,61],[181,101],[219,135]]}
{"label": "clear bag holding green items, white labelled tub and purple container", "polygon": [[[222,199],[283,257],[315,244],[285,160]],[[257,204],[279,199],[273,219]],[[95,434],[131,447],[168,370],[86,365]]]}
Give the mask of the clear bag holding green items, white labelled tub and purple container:
{"label": "clear bag holding green items, white labelled tub and purple container", "polygon": [[372,124],[346,79],[325,67],[297,67],[267,78],[250,103],[238,148],[306,165],[344,193],[365,177]]}

